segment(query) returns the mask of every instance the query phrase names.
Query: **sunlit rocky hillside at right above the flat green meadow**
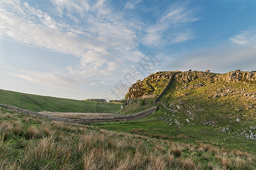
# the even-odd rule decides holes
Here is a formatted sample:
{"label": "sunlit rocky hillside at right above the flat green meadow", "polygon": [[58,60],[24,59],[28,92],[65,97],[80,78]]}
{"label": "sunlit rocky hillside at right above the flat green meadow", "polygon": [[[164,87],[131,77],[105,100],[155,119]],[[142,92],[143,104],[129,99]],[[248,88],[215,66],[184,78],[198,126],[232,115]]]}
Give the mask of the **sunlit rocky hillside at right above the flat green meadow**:
{"label": "sunlit rocky hillside at right above the flat green meadow", "polygon": [[[127,93],[127,107],[121,114],[152,105],[174,71],[160,71],[133,84]],[[162,84],[161,86],[159,85]],[[144,87],[148,88],[144,88]],[[159,90],[160,89],[160,90]],[[137,102],[134,102],[137,100]],[[205,116],[229,116],[255,120],[256,73],[230,72],[226,74],[185,71],[175,75],[167,92],[161,97],[175,112]],[[142,103],[139,103],[142,101]],[[201,113],[205,114],[201,114]],[[204,116],[205,115],[205,116]],[[207,118],[207,117],[205,117]]]}

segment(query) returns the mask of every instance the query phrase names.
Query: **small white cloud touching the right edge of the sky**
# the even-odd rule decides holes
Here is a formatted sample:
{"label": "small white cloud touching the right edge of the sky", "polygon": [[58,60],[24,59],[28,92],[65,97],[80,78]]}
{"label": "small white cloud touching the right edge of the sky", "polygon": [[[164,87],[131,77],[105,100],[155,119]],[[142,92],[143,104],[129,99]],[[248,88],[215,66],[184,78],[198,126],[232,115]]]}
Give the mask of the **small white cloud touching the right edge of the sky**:
{"label": "small white cloud touching the right edge of the sky", "polygon": [[242,33],[230,37],[229,39],[234,44],[245,45],[256,42],[256,27],[242,31]]}

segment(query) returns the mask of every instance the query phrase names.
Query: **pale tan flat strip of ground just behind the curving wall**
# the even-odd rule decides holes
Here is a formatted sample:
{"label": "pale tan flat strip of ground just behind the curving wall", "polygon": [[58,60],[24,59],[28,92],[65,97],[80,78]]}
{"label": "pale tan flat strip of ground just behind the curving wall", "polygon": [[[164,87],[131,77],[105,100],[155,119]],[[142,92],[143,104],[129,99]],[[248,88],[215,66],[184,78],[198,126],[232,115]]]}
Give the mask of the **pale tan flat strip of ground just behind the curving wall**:
{"label": "pale tan flat strip of ground just behind the curving wall", "polygon": [[56,117],[64,117],[64,118],[89,118],[89,117],[110,117],[110,113],[63,113],[63,112],[39,112],[43,114],[49,114],[51,116]]}

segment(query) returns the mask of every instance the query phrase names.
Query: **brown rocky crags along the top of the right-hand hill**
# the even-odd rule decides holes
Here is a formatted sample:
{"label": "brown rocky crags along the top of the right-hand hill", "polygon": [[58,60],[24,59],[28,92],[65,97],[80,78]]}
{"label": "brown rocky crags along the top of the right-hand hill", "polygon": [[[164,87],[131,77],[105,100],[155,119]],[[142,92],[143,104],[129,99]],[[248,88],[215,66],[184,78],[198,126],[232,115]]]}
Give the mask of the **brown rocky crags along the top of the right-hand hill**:
{"label": "brown rocky crags along the top of the right-hand hill", "polygon": [[[142,99],[155,97],[163,91],[171,75],[177,71],[159,71],[158,73],[150,74],[142,81],[131,85],[128,91],[128,99]],[[197,84],[188,84],[196,80]],[[174,81],[179,84],[184,84],[185,87],[197,88],[205,84],[214,83],[217,81],[224,82],[256,82],[256,73],[247,71],[230,71],[229,73],[216,74],[206,73],[203,71],[184,71],[178,73],[174,77]],[[184,88],[185,88],[184,87]]]}

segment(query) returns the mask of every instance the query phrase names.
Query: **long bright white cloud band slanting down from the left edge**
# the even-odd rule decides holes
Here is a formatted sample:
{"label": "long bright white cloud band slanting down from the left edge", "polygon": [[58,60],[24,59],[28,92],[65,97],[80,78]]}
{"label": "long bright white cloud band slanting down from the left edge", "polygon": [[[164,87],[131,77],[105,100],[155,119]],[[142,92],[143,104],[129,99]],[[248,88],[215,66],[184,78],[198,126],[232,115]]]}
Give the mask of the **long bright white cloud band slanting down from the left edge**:
{"label": "long bright white cloud band slanting down from the left edge", "polygon": [[[76,34],[52,30],[29,21],[24,22],[6,10],[0,9],[0,11],[1,38],[7,37],[22,44],[75,56],[81,56],[83,53],[83,49],[80,48],[82,39]],[[86,42],[83,46],[87,49],[94,49],[94,45]]]}

